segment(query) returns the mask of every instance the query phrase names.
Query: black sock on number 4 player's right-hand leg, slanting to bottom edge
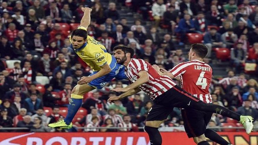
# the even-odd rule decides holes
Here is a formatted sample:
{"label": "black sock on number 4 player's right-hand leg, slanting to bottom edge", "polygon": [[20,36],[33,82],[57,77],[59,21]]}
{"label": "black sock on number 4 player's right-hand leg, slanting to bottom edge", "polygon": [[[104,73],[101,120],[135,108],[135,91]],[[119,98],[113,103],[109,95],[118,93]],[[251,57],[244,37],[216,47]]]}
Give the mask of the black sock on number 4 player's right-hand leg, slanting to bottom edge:
{"label": "black sock on number 4 player's right-hand leg, slanting to bottom edge", "polygon": [[206,129],[204,135],[205,135],[205,137],[211,139],[212,141],[214,141],[220,145],[229,145],[230,144],[228,141],[223,139],[223,137],[221,137],[219,134],[217,134],[217,132],[215,132],[212,129]]}

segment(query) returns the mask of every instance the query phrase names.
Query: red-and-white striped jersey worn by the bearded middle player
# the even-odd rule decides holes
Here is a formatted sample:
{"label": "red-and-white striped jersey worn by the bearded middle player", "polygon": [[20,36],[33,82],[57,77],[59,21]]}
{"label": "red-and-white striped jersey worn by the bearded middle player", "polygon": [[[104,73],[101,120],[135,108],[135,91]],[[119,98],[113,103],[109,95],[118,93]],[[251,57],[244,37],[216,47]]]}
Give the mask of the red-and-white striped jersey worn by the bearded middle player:
{"label": "red-and-white striped jersey worn by the bearded middle player", "polygon": [[140,71],[147,71],[150,80],[139,88],[147,93],[152,100],[176,85],[170,77],[160,76],[149,62],[142,59],[132,58],[128,66],[125,67],[125,75],[132,83],[140,78],[138,75]]}

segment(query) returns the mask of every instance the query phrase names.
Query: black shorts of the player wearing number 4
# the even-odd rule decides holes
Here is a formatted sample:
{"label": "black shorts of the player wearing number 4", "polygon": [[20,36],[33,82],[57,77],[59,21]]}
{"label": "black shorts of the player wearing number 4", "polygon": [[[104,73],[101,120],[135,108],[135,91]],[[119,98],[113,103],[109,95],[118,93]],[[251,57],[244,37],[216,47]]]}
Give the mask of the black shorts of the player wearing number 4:
{"label": "black shorts of the player wearing number 4", "polygon": [[192,138],[205,133],[206,126],[210,122],[213,113],[196,109],[182,109],[181,114],[186,134],[189,138]]}

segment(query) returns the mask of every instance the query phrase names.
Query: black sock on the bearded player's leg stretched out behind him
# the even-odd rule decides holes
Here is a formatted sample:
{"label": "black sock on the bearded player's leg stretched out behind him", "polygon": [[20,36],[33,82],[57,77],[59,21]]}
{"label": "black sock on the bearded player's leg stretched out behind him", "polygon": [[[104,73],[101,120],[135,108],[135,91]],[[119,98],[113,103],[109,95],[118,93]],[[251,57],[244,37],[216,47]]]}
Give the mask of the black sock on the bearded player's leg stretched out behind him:
{"label": "black sock on the bearded player's leg stretched out behind him", "polygon": [[[194,103],[193,103],[194,104]],[[225,107],[222,107],[220,105],[213,105],[209,103],[204,103],[202,101],[199,101],[198,103],[194,104],[194,108],[198,110],[203,110],[206,112],[213,112],[220,114],[225,117],[232,118],[234,120],[240,121],[240,115],[237,114],[236,112],[233,112]]]}

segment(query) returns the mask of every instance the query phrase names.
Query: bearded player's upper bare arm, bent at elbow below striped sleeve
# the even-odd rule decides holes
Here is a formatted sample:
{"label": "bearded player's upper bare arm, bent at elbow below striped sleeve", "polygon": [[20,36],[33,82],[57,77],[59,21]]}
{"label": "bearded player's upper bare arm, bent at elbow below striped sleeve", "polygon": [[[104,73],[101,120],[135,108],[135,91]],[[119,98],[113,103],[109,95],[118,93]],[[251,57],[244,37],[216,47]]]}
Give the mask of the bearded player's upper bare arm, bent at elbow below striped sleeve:
{"label": "bearded player's upper bare arm, bent at elbow below striped sleeve", "polygon": [[111,90],[116,91],[116,92],[127,92],[129,90],[132,90],[132,89],[135,89],[135,88],[141,86],[144,83],[147,83],[150,80],[147,71],[139,71],[138,75],[140,76],[139,79],[137,79],[134,83],[128,85],[127,87],[115,88],[115,89],[111,89]]}

